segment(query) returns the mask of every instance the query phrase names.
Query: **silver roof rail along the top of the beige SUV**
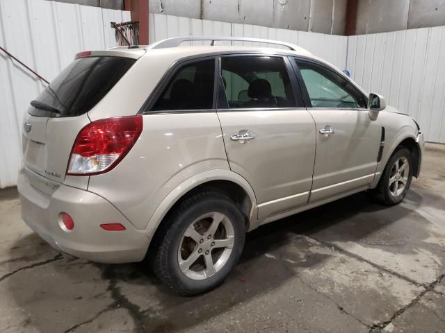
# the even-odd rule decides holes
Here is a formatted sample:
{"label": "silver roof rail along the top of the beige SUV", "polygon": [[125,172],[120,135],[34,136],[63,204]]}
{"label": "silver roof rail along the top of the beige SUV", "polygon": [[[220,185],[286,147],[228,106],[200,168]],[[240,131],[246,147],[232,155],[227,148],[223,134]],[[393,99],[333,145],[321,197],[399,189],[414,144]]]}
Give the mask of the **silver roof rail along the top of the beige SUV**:
{"label": "silver roof rail along the top of the beige SUV", "polygon": [[168,38],[166,40],[160,40],[159,42],[156,42],[154,44],[148,45],[145,49],[165,49],[168,47],[177,47],[179,44],[183,42],[196,42],[196,41],[203,41],[208,40],[211,42],[211,46],[215,44],[215,41],[232,41],[232,42],[257,42],[257,43],[266,43],[266,44],[275,44],[275,45],[281,45],[286,46],[288,49],[292,51],[306,51],[305,49],[302,49],[300,46],[296,46],[291,43],[286,42],[279,42],[277,40],[264,40],[261,38],[246,38],[246,37],[213,37],[213,36],[200,36],[200,37],[172,37]]}

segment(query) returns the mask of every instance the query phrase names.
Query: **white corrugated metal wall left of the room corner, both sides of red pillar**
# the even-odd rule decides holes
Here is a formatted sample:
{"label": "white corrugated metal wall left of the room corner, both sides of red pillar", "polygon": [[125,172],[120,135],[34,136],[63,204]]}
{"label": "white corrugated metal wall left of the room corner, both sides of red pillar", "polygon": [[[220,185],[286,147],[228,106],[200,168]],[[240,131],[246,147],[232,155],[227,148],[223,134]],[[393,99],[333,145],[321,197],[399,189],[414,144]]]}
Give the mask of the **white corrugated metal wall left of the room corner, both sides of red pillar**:
{"label": "white corrugated metal wall left of the room corner, both sides of red pillar", "polygon": [[[74,54],[115,46],[110,22],[129,21],[129,12],[44,0],[0,1],[0,45],[51,80]],[[300,44],[344,68],[346,37],[248,24],[150,14],[150,42],[178,35],[261,37]],[[43,84],[0,52],[0,188],[13,186],[21,157],[22,117]]]}

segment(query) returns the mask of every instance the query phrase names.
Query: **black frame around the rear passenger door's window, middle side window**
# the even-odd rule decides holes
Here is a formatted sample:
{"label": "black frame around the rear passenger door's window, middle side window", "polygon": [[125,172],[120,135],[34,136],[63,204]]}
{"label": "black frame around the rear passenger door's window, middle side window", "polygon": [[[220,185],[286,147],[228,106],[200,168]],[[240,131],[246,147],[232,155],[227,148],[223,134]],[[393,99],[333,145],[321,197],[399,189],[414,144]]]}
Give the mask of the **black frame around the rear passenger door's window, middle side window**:
{"label": "black frame around the rear passenger door's window, middle side window", "polygon": [[[223,84],[223,74],[222,74],[222,58],[223,57],[275,57],[275,58],[282,58],[284,62],[284,67],[287,71],[287,75],[289,76],[289,80],[291,82],[292,86],[292,92],[293,92],[293,99],[295,100],[295,105],[292,107],[285,107],[285,108],[230,108],[229,103],[227,101],[227,96],[225,94],[225,88]],[[302,98],[302,92],[300,85],[298,83],[298,80],[295,76],[295,73],[293,72],[293,69],[291,67],[291,61],[289,60],[289,56],[286,54],[280,54],[280,53],[244,53],[244,52],[237,52],[237,53],[229,53],[229,54],[220,54],[218,56],[218,87],[216,89],[218,90],[218,100],[216,104],[216,110],[217,112],[254,112],[254,111],[273,111],[273,110],[280,110],[280,111],[286,111],[286,110],[306,110],[305,102]],[[223,100],[223,101],[221,101]],[[300,103],[299,103],[300,101]],[[302,103],[301,103],[302,102]],[[222,104],[224,103],[224,105]]]}

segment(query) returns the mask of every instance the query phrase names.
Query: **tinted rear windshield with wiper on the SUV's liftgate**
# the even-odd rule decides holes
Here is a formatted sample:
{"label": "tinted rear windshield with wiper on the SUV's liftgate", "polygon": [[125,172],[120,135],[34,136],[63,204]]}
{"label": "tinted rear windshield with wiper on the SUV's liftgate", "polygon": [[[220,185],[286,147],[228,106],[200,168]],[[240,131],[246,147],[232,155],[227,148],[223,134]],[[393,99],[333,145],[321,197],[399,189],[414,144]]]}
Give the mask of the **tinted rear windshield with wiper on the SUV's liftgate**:
{"label": "tinted rear windshield with wiper on the SUV's liftgate", "polygon": [[29,108],[38,117],[76,117],[91,110],[122,78],[136,60],[87,57],[74,60],[35,99],[60,113]]}

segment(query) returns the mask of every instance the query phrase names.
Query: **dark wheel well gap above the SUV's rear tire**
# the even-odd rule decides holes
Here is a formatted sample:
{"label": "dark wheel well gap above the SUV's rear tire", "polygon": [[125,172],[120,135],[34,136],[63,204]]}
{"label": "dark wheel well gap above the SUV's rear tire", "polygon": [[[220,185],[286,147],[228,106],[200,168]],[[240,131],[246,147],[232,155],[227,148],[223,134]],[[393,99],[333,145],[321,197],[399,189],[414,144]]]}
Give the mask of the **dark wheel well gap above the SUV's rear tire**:
{"label": "dark wheel well gap above the SUV's rear tire", "polygon": [[243,187],[229,180],[211,180],[209,182],[204,182],[204,184],[198,185],[197,187],[194,187],[186,194],[181,196],[181,198],[179,198],[179,200],[177,200],[176,203],[172,205],[170,210],[168,210],[167,214],[165,214],[165,216],[163,217],[161,223],[159,223],[156,232],[154,232],[152,241],[150,242],[149,248],[147,250],[147,255],[145,256],[146,258],[154,255],[156,248],[159,246],[159,241],[168,227],[168,225],[165,225],[164,223],[165,218],[168,216],[168,214],[171,214],[171,212],[173,212],[175,208],[186,198],[188,198],[189,196],[193,196],[193,194],[196,194],[200,191],[216,191],[220,194],[223,194],[224,196],[227,196],[227,198],[230,198],[234,202],[238,210],[241,212],[241,214],[243,214],[244,216],[245,230],[249,230],[249,216],[250,210],[252,209],[252,202],[250,201],[250,197],[245,192]]}

